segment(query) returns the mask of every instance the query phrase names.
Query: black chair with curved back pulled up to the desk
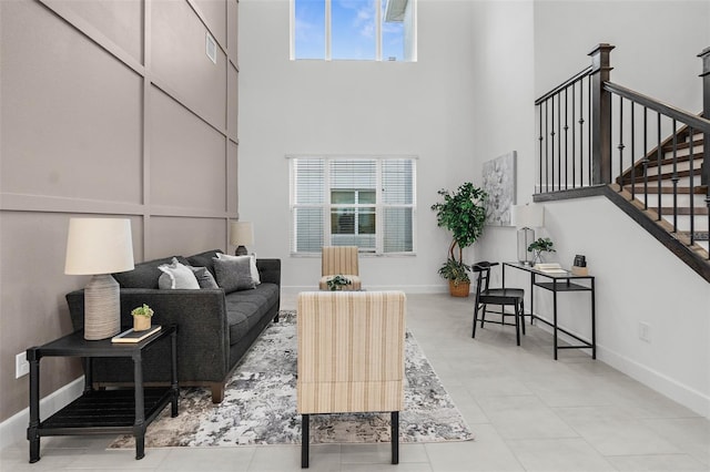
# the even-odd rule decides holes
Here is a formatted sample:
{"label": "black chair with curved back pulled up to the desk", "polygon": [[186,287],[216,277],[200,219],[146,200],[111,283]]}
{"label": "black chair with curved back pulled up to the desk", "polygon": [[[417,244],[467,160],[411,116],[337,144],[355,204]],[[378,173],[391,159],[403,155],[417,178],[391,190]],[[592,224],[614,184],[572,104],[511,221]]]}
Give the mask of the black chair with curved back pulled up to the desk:
{"label": "black chair with curved back pulled up to the desk", "polygon": [[[497,266],[498,263],[480,261],[474,265],[473,270],[477,275],[476,283],[476,307],[474,309],[474,334],[476,337],[476,324],[478,322],[478,311],[480,315],[480,327],[486,321],[486,308],[488,305],[500,305],[500,311],[491,311],[500,315],[500,321],[491,321],[496,325],[515,326],[515,336],[520,346],[520,326],[525,335],[525,290],[521,288],[490,288],[490,268]],[[515,309],[514,314],[505,312],[505,307],[511,305]],[[506,317],[514,317],[515,324],[506,322]]]}

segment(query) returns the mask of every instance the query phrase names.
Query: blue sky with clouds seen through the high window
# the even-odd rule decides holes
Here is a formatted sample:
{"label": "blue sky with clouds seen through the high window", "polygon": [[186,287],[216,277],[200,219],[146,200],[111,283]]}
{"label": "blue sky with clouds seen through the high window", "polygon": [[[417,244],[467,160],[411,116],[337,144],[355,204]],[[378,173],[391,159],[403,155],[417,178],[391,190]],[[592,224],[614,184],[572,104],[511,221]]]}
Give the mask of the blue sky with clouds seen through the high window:
{"label": "blue sky with clouds seen through the high window", "polygon": [[[295,4],[294,58],[325,59],[326,0],[293,0]],[[375,60],[377,45],[376,8],[385,18],[387,1],[331,0],[331,59]],[[382,25],[382,59],[404,59],[402,23]]]}

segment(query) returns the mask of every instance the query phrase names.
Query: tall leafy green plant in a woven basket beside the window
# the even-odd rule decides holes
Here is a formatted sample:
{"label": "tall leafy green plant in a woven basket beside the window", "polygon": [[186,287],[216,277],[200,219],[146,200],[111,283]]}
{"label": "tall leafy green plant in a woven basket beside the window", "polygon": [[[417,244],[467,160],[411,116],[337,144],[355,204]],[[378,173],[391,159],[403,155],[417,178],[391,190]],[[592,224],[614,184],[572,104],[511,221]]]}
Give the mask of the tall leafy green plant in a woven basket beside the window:
{"label": "tall leafy green plant in a woven basket beside the window", "polygon": [[464,248],[473,245],[484,232],[488,195],[470,182],[462,184],[456,192],[440,189],[437,193],[444,202],[432,205],[436,212],[436,224],[452,232],[449,255],[439,268],[439,275],[449,281],[453,296],[468,297],[470,279],[467,273],[470,267],[464,264]]}

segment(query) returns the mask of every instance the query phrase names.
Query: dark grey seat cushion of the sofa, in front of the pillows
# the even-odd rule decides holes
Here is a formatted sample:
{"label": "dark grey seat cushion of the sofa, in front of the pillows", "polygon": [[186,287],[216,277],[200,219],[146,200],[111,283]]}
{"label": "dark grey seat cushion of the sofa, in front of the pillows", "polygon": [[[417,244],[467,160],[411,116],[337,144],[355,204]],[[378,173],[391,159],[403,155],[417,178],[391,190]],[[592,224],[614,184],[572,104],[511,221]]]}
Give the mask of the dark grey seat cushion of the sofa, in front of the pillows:
{"label": "dark grey seat cushion of the sofa, in front of the pillows", "polygon": [[278,302],[278,286],[263,283],[253,290],[227,294],[225,301],[230,345],[234,345],[258,324],[271,307]]}

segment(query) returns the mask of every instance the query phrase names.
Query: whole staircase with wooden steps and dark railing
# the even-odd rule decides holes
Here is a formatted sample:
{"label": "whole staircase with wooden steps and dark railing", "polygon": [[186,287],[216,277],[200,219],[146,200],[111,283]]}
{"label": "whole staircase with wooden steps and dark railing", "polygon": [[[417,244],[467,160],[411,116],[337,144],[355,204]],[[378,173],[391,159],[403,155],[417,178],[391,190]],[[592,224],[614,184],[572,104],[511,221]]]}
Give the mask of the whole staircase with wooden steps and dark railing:
{"label": "whole staircase with wooden steps and dark railing", "polygon": [[535,101],[534,201],[604,195],[710,283],[710,48],[704,116],[611,82],[613,48]]}

